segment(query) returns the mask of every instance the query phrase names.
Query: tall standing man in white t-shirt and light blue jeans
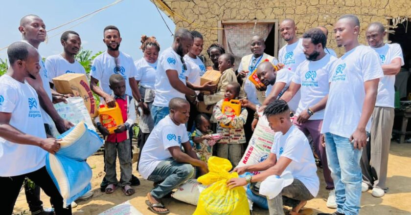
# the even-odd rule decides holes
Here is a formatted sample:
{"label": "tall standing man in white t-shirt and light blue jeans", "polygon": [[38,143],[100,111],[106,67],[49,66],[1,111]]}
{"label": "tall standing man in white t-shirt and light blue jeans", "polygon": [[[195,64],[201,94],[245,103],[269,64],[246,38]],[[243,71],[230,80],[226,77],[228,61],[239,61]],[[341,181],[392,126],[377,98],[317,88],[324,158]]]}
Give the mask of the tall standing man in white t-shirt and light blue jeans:
{"label": "tall standing man in white t-shirt and light blue jeans", "polygon": [[328,73],[330,90],[321,133],[325,134],[328,167],[335,185],[338,206],[334,214],[358,215],[360,159],[383,70],[377,53],[358,43],[360,21],[356,16],[341,16],[334,31],[337,45],[345,48],[345,54]]}

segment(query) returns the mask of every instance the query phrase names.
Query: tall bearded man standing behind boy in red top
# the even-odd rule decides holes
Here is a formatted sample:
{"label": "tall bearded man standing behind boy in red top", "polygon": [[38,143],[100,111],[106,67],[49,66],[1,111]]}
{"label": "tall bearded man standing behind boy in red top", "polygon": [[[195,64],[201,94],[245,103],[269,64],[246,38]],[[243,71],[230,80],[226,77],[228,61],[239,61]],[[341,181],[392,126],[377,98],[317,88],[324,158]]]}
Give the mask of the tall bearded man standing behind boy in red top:
{"label": "tall bearded man standing behind boy in red top", "polygon": [[[109,80],[111,75],[121,74],[124,80],[126,80],[125,94],[129,96],[132,95],[138,102],[138,105],[142,106],[143,100],[141,99],[138,86],[134,85],[136,82],[134,76],[137,73],[137,68],[134,65],[133,58],[118,50],[121,43],[120,31],[117,27],[109,25],[104,28],[103,34],[103,43],[107,45],[107,51],[97,56],[91,65],[91,90],[100,96],[100,102],[105,102],[108,107],[115,107],[113,90],[110,89]],[[97,86],[99,82],[100,86]],[[130,85],[130,83],[132,83],[132,85]],[[129,130],[130,127],[127,129]],[[132,135],[130,135],[130,137],[132,137]],[[131,156],[133,156],[133,154]],[[100,189],[104,190],[107,185],[106,178],[103,178]],[[132,175],[131,185],[140,185],[140,181],[134,175]]]}

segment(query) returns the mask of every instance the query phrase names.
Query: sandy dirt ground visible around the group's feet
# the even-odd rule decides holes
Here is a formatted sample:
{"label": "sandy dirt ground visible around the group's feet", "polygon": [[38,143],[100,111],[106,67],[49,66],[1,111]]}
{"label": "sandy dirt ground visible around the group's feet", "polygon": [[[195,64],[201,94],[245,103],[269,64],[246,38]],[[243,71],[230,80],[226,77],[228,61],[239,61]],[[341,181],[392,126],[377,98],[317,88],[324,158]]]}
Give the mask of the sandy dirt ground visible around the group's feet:
{"label": "sandy dirt ground visible around the group's feet", "polygon": [[[77,202],[78,206],[73,209],[74,215],[97,215],[104,212],[117,204],[130,200],[130,203],[144,215],[154,215],[145,205],[145,195],[153,187],[153,183],[144,180],[136,169],[136,163],[133,164],[133,173],[140,179],[141,185],[134,187],[136,194],[125,196],[121,189],[117,189],[113,194],[100,192],[99,184],[103,179],[103,156],[91,156],[87,162],[91,166],[93,176],[91,186],[94,195],[91,199]],[[382,198],[372,197],[371,191],[363,193],[361,197],[360,215],[411,215],[411,144],[397,144],[392,142],[388,160],[388,179],[387,186],[389,191]],[[328,209],[325,206],[328,196],[325,189],[325,183],[322,177],[322,170],[317,172],[320,178],[320,193],[318,196],[309,201],[306,207],[312,208],[314,214],[332,213],[335,210]],[[117,162],[117,176],[119,177],[119,167]],[[44,207],[49,208],[48,197],[42,193],[41,199]],[[164,199],[165,206],[171,211],[170,215],[190,215],[194,212],[195,206],[180,202],[173,198]],[[25,200],[24,191],[14,207],[16,214],[30,214]],[[24,212],[25,211],[25,212]],[[268,211],[254,208],[254,215],[268,215]]]}

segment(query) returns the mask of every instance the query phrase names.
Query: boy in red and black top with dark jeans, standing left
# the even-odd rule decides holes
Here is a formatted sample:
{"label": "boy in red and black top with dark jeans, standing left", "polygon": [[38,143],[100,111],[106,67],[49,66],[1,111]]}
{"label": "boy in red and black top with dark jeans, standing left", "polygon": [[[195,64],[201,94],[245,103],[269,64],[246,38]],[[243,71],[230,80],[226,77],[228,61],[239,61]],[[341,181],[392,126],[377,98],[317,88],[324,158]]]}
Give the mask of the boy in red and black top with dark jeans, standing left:
{"label": "boy in red and black top with dark jeans, standing left", "polygon": [[106,162],[106,179],[109,185],[106,187],[106,194],[114,192],[118,181],[115,173],[115,160],[118,152],[120,161],[120,183],[125,195],[134,194],[134,189],[131,185],[132,174],[132,159],[131,159],[131,144],[129,137],[130,126],[136,120],[136,111],[134,110],[134,99],[126,95],[126,82],[120,74],[114,74],[109,79],[110,89],[113,90],[115,102],[121,109],[124,124],[117,126],[113,134],[109,134],[109,130],[101,125],[96,117],[97,129],[106,139],[105,142],[105,162]]}

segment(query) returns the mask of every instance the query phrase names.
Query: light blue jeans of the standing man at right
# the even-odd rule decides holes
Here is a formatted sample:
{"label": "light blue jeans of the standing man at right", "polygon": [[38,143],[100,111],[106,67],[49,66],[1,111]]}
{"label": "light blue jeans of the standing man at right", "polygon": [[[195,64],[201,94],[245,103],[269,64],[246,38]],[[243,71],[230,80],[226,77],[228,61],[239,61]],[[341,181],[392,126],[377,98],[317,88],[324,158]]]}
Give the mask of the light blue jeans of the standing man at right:
{"label": "light blue jeans of the standing man at right", "polygon": [[334,180],[337,212],[358,215],[361,201],[360,160],[362,150],[354,149],[348,138],[325,133],[328,167]]}

